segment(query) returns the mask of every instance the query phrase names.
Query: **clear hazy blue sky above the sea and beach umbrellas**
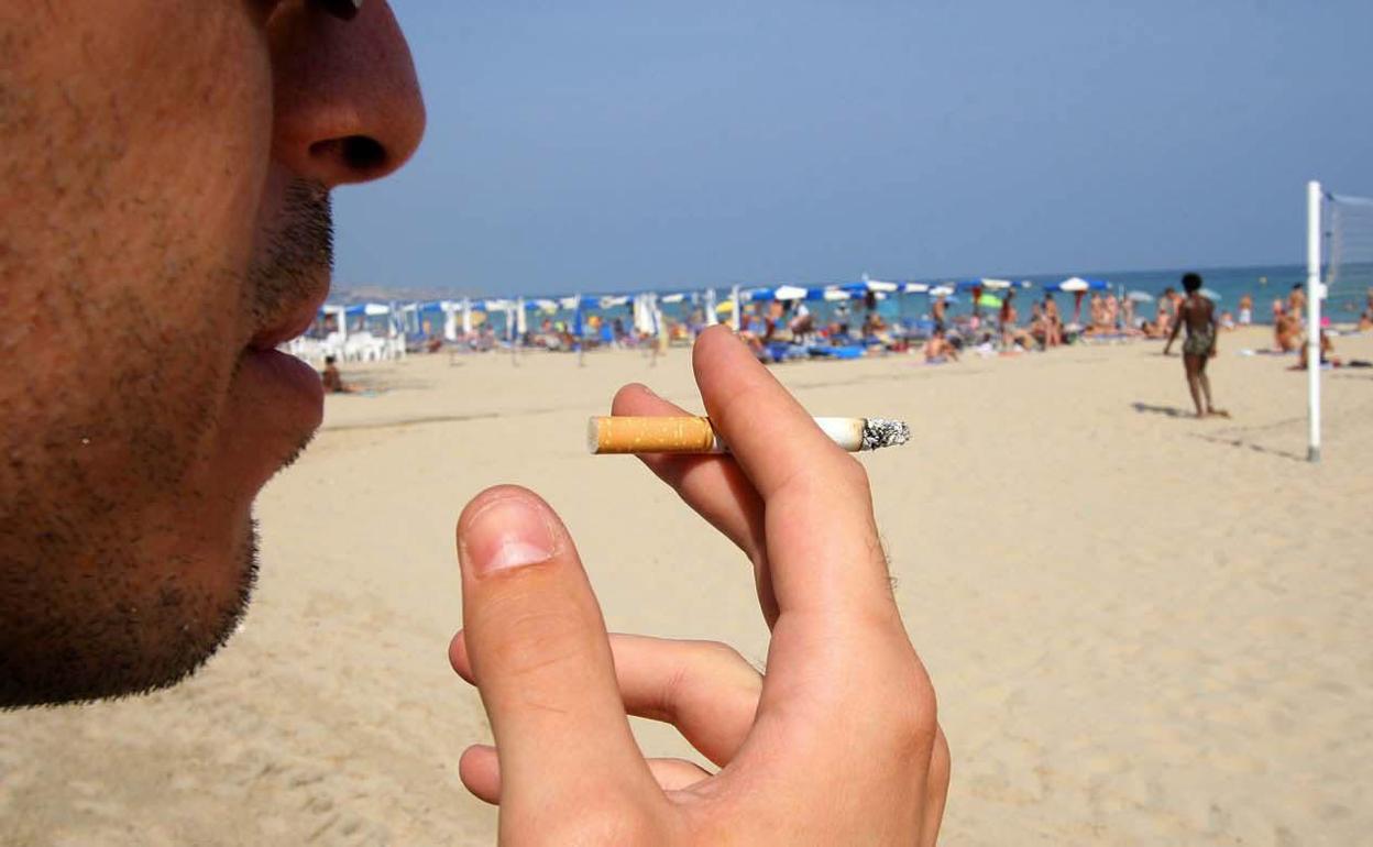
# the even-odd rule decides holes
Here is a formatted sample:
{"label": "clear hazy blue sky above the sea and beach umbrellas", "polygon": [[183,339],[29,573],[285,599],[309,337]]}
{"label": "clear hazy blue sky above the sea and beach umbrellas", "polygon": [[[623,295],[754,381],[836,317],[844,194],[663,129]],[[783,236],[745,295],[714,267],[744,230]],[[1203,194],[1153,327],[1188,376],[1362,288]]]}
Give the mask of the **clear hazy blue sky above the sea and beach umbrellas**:
{"label": "clear hazy blue sky above the sea and beach umbrellas", "polygon": [[393,7],[428,133],[343,287],[1296,264],[1306,180],[1373,195],[1368,0]]}

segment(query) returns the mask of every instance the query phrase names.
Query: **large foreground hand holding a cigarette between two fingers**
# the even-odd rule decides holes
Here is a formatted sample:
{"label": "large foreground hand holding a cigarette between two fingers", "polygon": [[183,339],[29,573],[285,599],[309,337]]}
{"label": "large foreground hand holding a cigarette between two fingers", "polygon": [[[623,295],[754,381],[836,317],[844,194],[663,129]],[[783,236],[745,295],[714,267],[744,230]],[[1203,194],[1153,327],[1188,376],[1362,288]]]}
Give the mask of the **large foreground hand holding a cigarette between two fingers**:
{"label": "large foreground hand holding a cigarette between two fingers", "polygon": [[[645,456],[755,567],[773,631],[759,675],[721,645],[607,637],[573,541],[523,489],[459,520],[454,669],[496,736],[464,784],[507,844],[932,844],[949,751],[891,594],[866,475],[725,329],[696,380],[733,457]],[[618,415],[680,415],[647,388]],[[721,766],[647,762],[629,714]]]}

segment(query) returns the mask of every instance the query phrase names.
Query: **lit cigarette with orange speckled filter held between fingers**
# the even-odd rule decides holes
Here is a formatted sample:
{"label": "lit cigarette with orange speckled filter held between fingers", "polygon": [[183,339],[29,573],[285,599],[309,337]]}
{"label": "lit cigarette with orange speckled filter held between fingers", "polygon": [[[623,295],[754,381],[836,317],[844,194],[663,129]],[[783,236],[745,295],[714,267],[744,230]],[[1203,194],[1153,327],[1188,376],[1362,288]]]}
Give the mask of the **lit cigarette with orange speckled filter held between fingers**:
{"label": "lit cigarette with orange speckled filter held between fingers", "polygon": [[[818,426],[850,453],[895,448],[910,441],[910,427],[886,417],[817,417]],[[593,417],[586,427],[593,456],[626,453],[728,453],[708,417]]]}

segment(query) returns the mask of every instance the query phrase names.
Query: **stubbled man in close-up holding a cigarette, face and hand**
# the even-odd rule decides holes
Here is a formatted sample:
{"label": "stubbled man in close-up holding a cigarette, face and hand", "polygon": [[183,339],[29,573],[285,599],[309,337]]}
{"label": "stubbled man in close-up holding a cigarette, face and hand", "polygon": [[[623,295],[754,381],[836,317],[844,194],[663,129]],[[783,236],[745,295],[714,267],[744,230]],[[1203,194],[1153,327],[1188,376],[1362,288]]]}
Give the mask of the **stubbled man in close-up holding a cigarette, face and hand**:
{"label": "stubbled man in close-up holding a cigarette, face and hand", "polygon": [[[331,192],[401,167],[424,107],[384,0],[5,0],[0,44],[5,710],[168,688],[238,630],[254,501],[323,417],[320,375],[277,347],[328,295]],[[766,671],[610,636],[552,508],[489,489],[457,519],[449,660],[496,744],[459,776],[500,804],[504,844],[930,847],[949,748],[864,467],[728,329],[693,362],[732,454],[644,464],[757,568]],[[614,410],[684,413],[641,386]],[[645,759],[630,714],[719,771]],[[253,842],[232,800],[150,802]]]}

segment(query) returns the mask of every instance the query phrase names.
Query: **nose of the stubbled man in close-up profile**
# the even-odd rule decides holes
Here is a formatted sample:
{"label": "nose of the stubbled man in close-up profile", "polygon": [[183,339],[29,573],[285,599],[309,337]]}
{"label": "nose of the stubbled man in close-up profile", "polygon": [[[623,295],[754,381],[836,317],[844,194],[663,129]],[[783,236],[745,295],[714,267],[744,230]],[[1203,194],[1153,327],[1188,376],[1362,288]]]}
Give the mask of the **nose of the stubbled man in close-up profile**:
{"label": "nose of the stubbled man in close-up profile", "polygon": [[332,188],[380,178],[419,147],[424,102],[387,3],[342,21],[313,3],[283,4],[268,25],[273,158]]}

